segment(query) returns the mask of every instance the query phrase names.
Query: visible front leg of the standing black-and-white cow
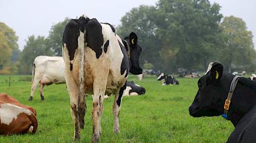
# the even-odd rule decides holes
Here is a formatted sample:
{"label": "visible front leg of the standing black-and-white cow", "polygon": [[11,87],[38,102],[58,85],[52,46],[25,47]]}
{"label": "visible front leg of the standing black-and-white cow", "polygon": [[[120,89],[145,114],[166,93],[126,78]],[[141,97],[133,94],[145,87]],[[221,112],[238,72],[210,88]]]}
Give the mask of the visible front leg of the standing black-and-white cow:
{"label": "visible front leg of the standing black-and-white cow", "polygon": [[113,116],[114,116],[114,127],[113,132],[119,133],[119,113],[121,108],[121,102],[124,94],[124,90],[126,88],[126,83],[123,87],[118,90],[117,93],[115,93],[115,99],[113,103]]}

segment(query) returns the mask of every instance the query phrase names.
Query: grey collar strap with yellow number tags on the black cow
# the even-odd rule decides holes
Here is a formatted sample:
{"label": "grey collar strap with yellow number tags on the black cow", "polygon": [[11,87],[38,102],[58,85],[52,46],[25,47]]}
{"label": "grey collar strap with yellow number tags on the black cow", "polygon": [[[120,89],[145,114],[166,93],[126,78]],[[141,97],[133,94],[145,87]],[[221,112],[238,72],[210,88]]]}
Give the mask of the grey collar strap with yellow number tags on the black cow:
{"label": "grey collar strap with yellow number tags on the black cow", "polygon": [[231,98],[232,98],[232,95],[235,91],[235,87],[237,85],[237,82],[239,80],[240,76],[235,76],[230,84],[230,89],[229,89],[229,92],[228,92],[228,98],[225,100],[225,103],[224,103],[224,114],[222,114],[222,117],[225,118],[226,120],[229,120],[228,119],[228,110],[229,110],[229,106],[230,106],[230,102],[231,102]]}

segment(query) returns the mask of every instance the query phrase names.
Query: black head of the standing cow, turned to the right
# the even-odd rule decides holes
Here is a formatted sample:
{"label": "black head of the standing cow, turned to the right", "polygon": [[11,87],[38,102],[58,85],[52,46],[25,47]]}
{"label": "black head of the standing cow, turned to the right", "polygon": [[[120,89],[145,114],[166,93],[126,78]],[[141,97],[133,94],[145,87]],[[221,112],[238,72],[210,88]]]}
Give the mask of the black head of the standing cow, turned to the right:
{"label": "black head of the standing cow, turned to the right", "polygon": [[131,32],[129,37],[125,37],[126,41],[129,41],[130,46],[130,61],[131,69],[130,73],[139,75],[142,74],[142,68],[139,66],[139,55],[141,55],[142,48],[138,44],[138,37],[134,32]]}

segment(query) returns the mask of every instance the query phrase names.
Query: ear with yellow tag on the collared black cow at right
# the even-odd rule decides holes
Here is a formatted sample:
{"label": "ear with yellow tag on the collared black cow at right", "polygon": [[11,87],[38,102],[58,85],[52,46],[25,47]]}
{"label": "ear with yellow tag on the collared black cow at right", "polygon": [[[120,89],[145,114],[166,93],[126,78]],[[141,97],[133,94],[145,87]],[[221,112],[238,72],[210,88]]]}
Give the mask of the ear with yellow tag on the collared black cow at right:
{"label": "ear with yellow tag on the collared black cow at right", "polygon": [[211,70],[210,70],[210,76],[212,81],[219,81],[222,77],[223,73],[223,66],[221,63],[213,63]]}

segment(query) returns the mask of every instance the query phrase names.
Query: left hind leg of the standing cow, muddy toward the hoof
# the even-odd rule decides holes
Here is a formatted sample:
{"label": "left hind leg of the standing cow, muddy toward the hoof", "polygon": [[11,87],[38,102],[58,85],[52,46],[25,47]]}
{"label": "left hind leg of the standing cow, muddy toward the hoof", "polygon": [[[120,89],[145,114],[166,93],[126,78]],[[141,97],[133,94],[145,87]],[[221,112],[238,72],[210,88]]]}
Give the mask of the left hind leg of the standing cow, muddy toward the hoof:
{"label": "left hind leg of the standing cow, muddy toward the hoof", "polygon": [[69,96],[70,96],[70,106],[71,106],[71,116],[74,121],[74,141],[80,139],[80,129],[78,125],[78,86],[75,82],[75,79],[71,76],[71,72],[65,74],[66,76],[66,87],[68,88]]}

